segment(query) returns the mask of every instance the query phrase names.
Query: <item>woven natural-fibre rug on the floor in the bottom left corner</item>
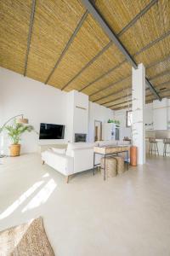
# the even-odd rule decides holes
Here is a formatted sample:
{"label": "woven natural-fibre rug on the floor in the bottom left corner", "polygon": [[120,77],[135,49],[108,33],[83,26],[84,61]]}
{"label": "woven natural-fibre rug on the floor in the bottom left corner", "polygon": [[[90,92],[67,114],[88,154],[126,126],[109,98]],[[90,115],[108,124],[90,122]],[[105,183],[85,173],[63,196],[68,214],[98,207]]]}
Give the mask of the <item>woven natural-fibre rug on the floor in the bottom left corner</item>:
{"label": "woven natural-fibre rug on the floor in the bottom left corner", "polygon": [[0,256],[54,256],[42,218],[0,232]]}

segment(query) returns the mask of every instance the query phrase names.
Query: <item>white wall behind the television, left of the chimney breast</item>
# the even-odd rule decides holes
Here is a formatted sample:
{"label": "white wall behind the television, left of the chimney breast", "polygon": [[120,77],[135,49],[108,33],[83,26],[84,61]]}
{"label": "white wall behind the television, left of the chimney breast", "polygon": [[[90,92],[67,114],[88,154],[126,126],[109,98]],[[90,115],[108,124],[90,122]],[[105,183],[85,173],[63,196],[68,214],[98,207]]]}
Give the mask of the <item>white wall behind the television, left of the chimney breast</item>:
{"label": "white wall behind the television, left of the chimney breast", "polygon": [[[24,113],[30,125],[33,125],[38,132],[40,123],[66,125],[64,91],[4,68],[0,69],[0,79],[0,94],[3,96],[1,124],[16,114]],[[38,143],[56,143],[56,141],[60,143],[61,140],[39,141],[35,132],[27,133],[23,135],[21,142],[22,152],[36,151]],[[7,152],[7,137],[3,148]]]}

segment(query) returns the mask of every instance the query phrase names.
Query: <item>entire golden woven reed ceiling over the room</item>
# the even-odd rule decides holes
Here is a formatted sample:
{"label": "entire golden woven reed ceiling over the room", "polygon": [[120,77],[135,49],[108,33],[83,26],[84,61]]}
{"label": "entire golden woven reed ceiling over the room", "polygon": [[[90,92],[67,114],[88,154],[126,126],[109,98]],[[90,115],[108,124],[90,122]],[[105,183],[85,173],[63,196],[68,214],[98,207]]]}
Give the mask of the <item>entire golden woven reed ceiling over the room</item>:
{"label": "entire golden woven reed ceiling over the room", "polygon": [[[111,109],[131,103],[132,67],[81,0],[0,1],[0,66]],[[96,0],[161,97],[170,96],[170,1]],[[33,12],[34,10],[34,12]],[[32,20],[32,22],[31,22]],[[146,102],[156,96],[146,90]]]}

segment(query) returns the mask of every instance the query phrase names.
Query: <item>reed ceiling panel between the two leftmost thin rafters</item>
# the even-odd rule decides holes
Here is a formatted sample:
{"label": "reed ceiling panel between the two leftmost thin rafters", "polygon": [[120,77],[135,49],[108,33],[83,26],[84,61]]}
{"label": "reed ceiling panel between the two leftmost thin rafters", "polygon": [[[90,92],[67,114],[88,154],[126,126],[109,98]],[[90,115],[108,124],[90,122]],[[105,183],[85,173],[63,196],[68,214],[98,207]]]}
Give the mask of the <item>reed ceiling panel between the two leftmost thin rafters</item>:
{"label": "reed ceiling panel between the two leftmost thin rafters", "polygon": [[84,12],[77,0],[37,1],[27,76],[45,82]]}

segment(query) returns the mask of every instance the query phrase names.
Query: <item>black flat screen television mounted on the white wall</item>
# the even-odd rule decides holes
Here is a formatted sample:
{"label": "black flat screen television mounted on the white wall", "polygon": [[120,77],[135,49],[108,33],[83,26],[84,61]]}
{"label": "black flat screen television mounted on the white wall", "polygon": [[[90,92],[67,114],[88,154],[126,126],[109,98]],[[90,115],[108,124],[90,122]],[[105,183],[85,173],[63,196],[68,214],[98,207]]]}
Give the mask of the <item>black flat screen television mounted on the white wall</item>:
{"label": "black flat screen television mounted on the white wall", "polygon": [[39,139],[64,139],[65,125],[40,124]]}

